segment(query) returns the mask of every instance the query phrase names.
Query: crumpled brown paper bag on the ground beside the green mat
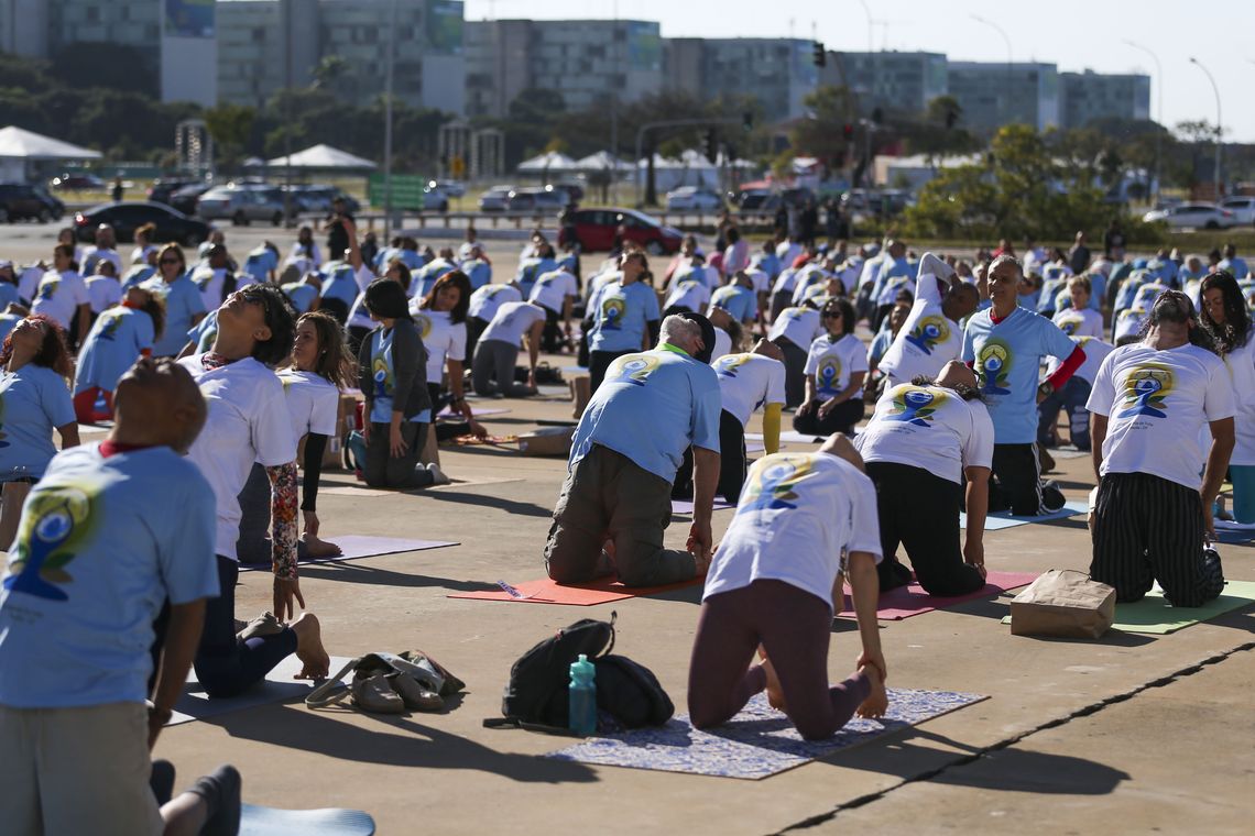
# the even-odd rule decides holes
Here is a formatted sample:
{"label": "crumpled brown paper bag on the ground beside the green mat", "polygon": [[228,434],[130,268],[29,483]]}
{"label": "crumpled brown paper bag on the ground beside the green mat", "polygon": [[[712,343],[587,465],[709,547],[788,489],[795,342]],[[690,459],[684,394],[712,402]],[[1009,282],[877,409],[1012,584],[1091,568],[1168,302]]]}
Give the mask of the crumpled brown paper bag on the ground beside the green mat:
{"label": "crumpled brown paper bag on the ground beside the green mat", "polygon": [[1012,634],[1098,638],[1116,620],[1116,589],[1076,569],[1050,569],[1012,599]]}

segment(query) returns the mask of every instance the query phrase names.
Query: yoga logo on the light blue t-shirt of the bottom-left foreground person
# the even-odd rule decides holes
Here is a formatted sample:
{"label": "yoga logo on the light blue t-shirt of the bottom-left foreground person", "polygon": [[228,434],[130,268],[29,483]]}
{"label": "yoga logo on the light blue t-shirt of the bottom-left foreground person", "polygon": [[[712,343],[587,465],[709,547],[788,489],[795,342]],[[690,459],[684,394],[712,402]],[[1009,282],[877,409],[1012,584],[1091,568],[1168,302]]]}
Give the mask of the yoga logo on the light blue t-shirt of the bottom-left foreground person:
{"label": "yoga logo on the light blue t-shirt of the bottom-left foreground person", "polygon": [[80,486],[36,489],[26,501],[4,588],[48,600],[69,600],[67,564],[92,528],[92,495]]}

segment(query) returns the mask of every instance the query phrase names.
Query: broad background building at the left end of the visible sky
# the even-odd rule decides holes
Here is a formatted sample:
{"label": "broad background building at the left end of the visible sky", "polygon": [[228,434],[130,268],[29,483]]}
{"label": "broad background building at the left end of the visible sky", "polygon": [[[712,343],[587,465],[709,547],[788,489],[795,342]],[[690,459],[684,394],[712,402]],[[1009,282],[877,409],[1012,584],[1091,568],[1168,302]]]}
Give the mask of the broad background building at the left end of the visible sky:
{"label": "broad background building at the left end of the visible sky", "polygon": [[567,110],[635,102],[663,86],[663,38],[644,20],[486,20],[466,24],[466,110],[505,117],[526,89]]}

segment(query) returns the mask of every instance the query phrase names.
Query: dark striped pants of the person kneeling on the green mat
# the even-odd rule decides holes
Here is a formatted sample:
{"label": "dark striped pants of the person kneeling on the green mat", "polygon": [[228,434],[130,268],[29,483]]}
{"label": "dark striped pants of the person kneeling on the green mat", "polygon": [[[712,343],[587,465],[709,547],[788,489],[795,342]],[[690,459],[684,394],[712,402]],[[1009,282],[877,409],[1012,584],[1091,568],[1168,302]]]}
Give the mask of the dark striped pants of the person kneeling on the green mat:
{"label": "dark striped pants of the person kneeling on the green mat", "polygon": [[1141,600],[1160,582],[1173,607],[1201,607],[1220,594],[1220,562],[1202,554],[1199,491],[1140,473],[1098,483],[1089,577],[1116,588],[1116,600]]}

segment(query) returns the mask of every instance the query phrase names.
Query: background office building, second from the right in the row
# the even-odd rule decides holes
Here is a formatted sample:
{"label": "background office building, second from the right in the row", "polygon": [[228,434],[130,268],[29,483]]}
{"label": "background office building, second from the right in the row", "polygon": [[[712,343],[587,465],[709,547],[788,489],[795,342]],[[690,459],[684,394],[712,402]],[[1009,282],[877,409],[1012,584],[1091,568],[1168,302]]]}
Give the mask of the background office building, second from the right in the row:
{"label": "background office building, second from the right in the row", "polygon": [[1038,130],[1059,125],[1059,73],[1054,64],[950,61],[950,95],[971,129],[993,132],[1005,124]]}

